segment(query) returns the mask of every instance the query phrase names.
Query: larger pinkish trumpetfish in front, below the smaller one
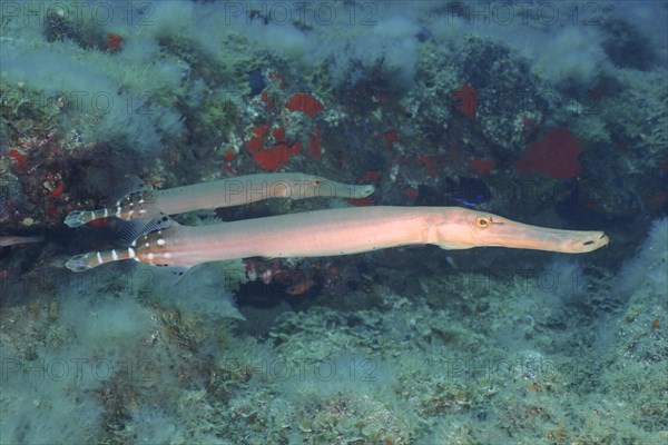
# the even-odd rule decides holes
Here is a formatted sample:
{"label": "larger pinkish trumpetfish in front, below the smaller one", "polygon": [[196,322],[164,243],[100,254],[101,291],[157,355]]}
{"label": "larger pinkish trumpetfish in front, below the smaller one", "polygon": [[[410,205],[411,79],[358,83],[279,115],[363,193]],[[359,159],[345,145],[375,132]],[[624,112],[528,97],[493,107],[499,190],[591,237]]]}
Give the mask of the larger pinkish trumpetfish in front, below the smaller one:
{"label": "larger pinkish trumpetfish in front, below the smaller one", "polygon": [[227,259],[337,256],[425,244],[443,249],[497,246],[581,254],[608,241],[602,231],[530,226],[460,207],[351,207],[198,227],[173,222],[140,236],[126,249],[79,255],[66,266],[80,271],[131,258],[187,269]]}

